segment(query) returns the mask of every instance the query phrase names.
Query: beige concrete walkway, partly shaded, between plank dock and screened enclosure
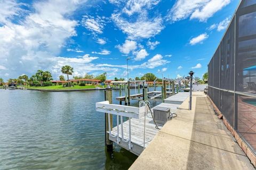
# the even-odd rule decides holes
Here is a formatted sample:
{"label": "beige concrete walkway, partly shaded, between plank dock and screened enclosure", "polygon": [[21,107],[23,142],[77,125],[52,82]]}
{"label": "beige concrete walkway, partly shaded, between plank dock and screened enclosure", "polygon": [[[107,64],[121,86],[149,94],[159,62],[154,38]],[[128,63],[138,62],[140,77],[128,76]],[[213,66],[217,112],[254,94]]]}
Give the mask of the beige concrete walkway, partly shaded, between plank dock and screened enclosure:
{"label": "beige concrete walkway, partly shaded, between plank dock and screened enclosure", "polygon": [[255,169],[203,92],[193,92],[130,169]]}

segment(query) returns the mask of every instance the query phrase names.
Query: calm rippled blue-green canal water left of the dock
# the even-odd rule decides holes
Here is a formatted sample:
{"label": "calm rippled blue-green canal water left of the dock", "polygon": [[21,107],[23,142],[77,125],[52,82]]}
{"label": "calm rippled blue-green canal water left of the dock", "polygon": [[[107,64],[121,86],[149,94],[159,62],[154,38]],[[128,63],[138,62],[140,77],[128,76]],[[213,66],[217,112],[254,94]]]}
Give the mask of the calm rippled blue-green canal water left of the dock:
{"label": "calm rippled blue-green canal water left of the dock", "polygon": [[116,145],[105,154],[104,114],[95,111],[103,90],[0,89],[0,96],[0,169],[127,169],[137,159]]}

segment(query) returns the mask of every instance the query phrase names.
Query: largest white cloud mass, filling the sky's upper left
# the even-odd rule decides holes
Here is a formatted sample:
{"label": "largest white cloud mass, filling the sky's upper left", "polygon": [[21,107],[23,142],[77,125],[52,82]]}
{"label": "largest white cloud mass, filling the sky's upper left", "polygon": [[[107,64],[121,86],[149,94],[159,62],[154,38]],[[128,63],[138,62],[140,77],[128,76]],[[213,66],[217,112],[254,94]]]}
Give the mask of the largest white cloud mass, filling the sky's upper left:
{"label": "largest white cloud mass, filling the sky's upper left", "polygon": [[[4,1],[0,3],[2,2]],[[76,36],[75,27],[78,23],[68,16],[81,5],[79,3],[34,2],[31,5],[33,11],[28,12],[22,19],[16,16],[19,9],[9,8],[14,11],[9,16],[4,16],[5,21],[0,27],[0,60],[1,65],[13,69],[9,72],[11,77],[17,77],[21,73],[31,75],[39,69],[51,71],[54,64],[51,59],[59,55],[68,38]],[[2,12],[2,4],[0,6]],[[15,22],[12,21],[14,15],[17,17]]]}

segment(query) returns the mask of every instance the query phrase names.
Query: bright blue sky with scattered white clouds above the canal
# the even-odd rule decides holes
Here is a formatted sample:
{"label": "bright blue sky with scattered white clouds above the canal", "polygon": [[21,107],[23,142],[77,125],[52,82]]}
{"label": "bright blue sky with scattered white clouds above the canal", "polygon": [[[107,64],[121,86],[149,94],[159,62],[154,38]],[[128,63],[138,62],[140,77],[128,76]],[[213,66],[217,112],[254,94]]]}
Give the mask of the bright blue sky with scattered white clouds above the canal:
{"label": "bright blue sky with scattered white clouds above the canal", "polygon": [[74,75],[108,79],[197,77],[233,16],[238,0],[0,1],[0,77],[37,70],[53,78],[63,65]]}

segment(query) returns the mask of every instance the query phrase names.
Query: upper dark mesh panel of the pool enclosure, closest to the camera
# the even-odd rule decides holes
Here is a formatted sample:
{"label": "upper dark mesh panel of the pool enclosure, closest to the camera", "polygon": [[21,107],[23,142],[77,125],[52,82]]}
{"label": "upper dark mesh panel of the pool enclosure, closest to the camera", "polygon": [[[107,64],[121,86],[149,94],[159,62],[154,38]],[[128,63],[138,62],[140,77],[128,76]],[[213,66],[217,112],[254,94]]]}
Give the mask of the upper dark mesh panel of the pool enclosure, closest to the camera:
{"label": "upper dark mesh panel of the pool enclosure, closest to the camera", "polygon": [[256,94],[256,12],[245,9],[236,16],[236,90]]}

